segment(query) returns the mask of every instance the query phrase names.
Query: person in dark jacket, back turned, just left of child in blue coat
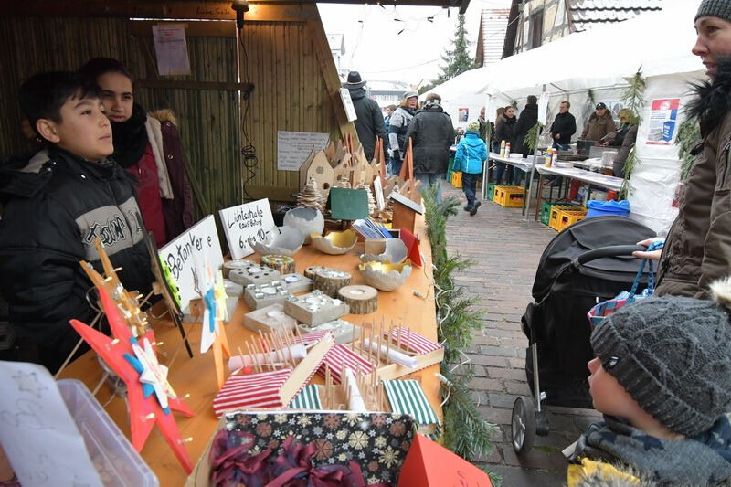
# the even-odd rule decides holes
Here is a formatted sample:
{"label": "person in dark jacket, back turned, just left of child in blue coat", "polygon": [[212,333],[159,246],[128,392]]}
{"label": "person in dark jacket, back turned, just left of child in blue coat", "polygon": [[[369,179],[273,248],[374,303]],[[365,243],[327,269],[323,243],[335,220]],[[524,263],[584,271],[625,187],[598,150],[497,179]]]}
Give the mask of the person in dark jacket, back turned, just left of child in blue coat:
{"label": "person in dark jacket, back turned, just left of child in blue coat", "polygon": [[421,181],[422,190],[437,185],[437,201],[441,201],[441,180],[447,174],[454,127],[441,109],[440,95],[427,95],[424,109],[417,111],[408,125],[406,138],[411,138],[414,146],[414,177]]}

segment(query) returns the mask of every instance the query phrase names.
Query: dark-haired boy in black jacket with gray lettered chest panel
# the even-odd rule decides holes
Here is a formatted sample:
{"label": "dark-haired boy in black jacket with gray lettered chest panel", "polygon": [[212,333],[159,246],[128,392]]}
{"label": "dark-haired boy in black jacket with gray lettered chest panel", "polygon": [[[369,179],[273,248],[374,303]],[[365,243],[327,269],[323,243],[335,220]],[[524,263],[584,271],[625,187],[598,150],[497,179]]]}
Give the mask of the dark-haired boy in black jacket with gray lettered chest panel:
{"label": "dark-haired boy in black jacket with gray lettered chest panel", "polygon": [[79,340],[69,319],[95,315],[79,266],[101,270],[95,238],[128,290],[148,292],[153,277],[132,184],[106,158],[114,148],[97,88],[75,73],[39,73],[21,86],[20,105],[46,149],[0,163],[0,291],[18,358],[54,372]]}

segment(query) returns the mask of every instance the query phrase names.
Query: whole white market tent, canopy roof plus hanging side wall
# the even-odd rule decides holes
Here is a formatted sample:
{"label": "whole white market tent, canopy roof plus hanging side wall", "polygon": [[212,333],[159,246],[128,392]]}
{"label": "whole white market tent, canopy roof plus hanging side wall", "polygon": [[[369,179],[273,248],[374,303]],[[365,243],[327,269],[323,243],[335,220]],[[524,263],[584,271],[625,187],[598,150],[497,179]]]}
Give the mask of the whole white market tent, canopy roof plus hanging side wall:
{"label": "whole white market tent, canopy roof plus hanging side wall", "polygon": [[[647,122],[652,100],[680,98],[682,108],[690,95],[688,82],[703,76],[704,67],[691,52],[699,4],[700,0],[665,0],[661,11],[560,38],[492,66],[467,71],[430,91],[440,93],[453,120],[457,109],[464,107],[470,108],[470,120],[474,120],[473,111],[485,106],[489,95],[506,105],[538,95],[545,87],[550,94],[548,122],[557,104],[570,100],[577,126],[583,127],[590,112],[588,90],[595,101],[619,101],[627,86],[625,78],[641,70],[647,80],[648,104],[641,113],[640,164],[630,181],[630,205],[632,217],[663,233],[677,213],[672,206],[679,175],[677,146],[648,143]],[[580,132],[579,128],[577,135]]]}

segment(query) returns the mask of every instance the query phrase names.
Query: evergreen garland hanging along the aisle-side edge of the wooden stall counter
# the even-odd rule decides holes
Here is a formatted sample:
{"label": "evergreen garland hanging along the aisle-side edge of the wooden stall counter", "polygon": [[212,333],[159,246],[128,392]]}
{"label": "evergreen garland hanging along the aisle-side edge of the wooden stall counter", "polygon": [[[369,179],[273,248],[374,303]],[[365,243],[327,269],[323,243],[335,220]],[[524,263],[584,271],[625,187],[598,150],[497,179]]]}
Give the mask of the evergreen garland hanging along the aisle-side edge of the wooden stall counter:
{"label": "evergreen garland hanging along the aisle-side edge of the wooden stall counter", "polygon": [[[455,286],[450,274],[469,268],[473,262],[447,252],[447,218],[457,215],[460,202],[453,197],[436,203],[436,185],[424,191],[427,234],[431,242],[434,271],[434,299],[437,305],[439,341],[444,345],[440,373],[445,399],[444,429],[440,441],[462,458],[484,458],[493,450],[493,435],[499,429],[482,418],[469,387],[474,374],[470,365],[462,365],[461,349],[472,343],[472,332],[482,330],[483,313],[472,309],[478,298],[466,297],[464,288]],[[459,367],[459,374],[453,372]],[[494,485],[500,478],[488,471]]]}

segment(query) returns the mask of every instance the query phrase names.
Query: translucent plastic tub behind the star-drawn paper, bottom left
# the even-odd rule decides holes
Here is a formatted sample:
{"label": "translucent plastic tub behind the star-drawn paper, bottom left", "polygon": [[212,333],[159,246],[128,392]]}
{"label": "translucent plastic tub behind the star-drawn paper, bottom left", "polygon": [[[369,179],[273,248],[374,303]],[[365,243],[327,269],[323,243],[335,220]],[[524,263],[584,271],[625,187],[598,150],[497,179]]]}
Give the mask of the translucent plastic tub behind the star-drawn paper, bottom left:
{"label": "translucent plastic tub behind the star-drawn paper, bottom left", "polygon": [[106,486],[156,487],[157,477],[132,448],[87,386],[75,379],[58,381],[71,417],[84,437],[91,462]]}

